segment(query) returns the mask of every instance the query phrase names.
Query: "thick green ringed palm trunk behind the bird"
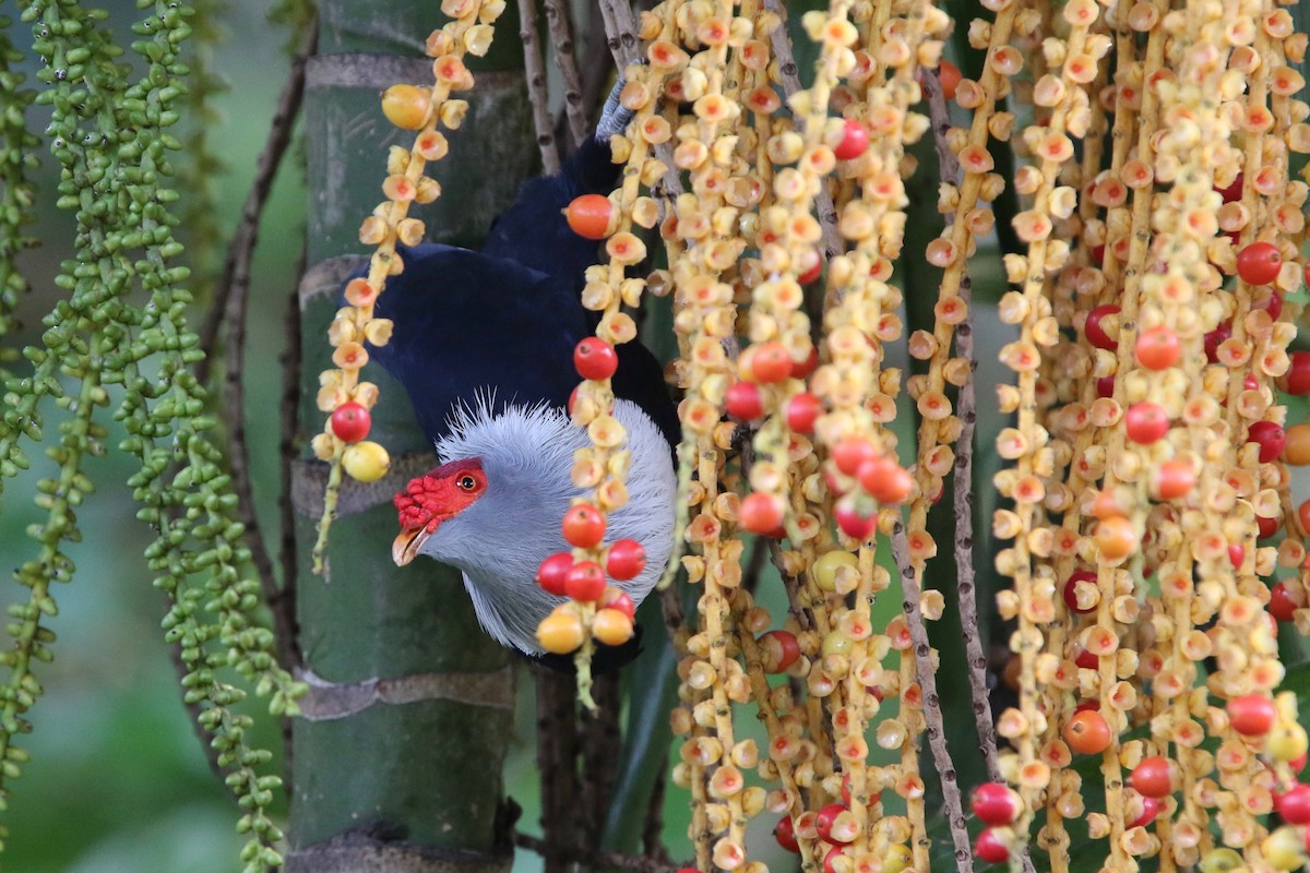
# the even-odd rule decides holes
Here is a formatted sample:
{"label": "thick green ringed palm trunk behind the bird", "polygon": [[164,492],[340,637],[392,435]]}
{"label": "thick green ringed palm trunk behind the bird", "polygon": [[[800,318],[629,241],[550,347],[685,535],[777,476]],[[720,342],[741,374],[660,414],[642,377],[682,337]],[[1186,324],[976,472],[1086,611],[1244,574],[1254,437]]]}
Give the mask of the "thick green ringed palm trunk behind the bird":
{"label": "thick green ringed palm trunk behind the bird", "polygon": [[[303,433],[322,428],[318,374],[331,368],[328,326],[342,279],[364,262],[356,232],[383,200],[389,145],[413,135],[383,116],[379,94],[396,82],[431,82],[422,54],[444,22],[431,3],[334,3],[320,10],[320,54],[305,94],[309,271],[301,285]],[[536,147],[516,24],[496,24],[493,55],[470,63],[477,88],[451,154],[428,173],[444,194],[413,213],[428,237],[476,245],[495,213],[534,170]],[[461,94],[461,97],[465,97]],[[287,869],[507,870],[502,760],[514,690],[508,658],[481,632],[458,572],[432,561],[397,569],[392,495],[430,469],[431,448],[398,383],[377,366],[381,387],[371,438],[392,453],[380,482],[350,480],[331,531],[326,569],[309,552],[326,465],[297,462],[293,500],[299,622],[304,669],[314,690],[295,724]],[[308,455],[305,455],[308,457]]]}

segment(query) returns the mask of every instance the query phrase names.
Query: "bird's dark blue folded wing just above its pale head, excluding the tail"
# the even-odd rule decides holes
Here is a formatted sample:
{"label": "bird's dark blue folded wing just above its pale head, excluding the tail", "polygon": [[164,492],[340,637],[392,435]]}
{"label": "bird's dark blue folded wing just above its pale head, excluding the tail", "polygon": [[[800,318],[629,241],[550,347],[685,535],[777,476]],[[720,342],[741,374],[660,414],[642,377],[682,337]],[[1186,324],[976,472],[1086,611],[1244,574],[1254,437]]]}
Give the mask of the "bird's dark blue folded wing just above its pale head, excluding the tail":
{"label": "bird's dark blue folded wing just above its pale head, excluding the tail", "polygon": [[430,440],[451,411],[494,390],[507,403],[565,406],[578,385],[574,346],[591,334],[566,281],[503,258],[424,243],[400,249],[405,271],[375,313],[396,327],[369,356],[403,386]]}

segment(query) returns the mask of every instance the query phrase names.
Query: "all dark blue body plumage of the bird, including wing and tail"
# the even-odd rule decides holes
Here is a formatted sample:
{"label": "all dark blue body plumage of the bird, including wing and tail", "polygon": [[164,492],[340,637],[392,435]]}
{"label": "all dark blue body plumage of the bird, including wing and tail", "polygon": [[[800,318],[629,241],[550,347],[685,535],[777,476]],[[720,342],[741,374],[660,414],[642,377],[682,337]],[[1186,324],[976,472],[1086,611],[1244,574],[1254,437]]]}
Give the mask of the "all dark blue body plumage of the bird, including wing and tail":
{"label": "all dark blue body plumage of the bird, including wing and tail", "polygon": [[[495,404],[565,406],[578,385],[572,349],[596,330],[583,308],[583,271],[599,246],[569,228],[580,194],[608,192],[617,177],[595,137],[557,175],[531,179],[491,228],[481,253],[438,243],[400,249],[405,271],[386,281],[377,315],[396,322],[371,355],[405,386],[430,440],[447,433],[455,404],[494,389]],[[677,411],[663,368],[641,343],[618,346],[614,395],[631,401],[676,445]]]}

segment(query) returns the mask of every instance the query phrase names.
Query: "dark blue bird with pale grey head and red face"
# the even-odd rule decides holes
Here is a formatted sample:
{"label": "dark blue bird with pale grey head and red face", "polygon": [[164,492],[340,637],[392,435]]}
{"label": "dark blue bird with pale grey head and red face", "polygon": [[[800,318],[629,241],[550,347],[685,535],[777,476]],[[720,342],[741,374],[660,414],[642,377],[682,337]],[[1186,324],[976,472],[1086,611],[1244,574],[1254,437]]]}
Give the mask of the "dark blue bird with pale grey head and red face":
{"label": "dark blue bird with pale grey head and red face", "polygon": [[[534,576],[545,558],[569,550],[561,518],[583,495],[571,469],[588,437],[565,407],[579,382],[574,347],[597,322],[579,298],[597,246],[574,234],[562,211],[580,194],[613,186],[608,134],[626,123],[622,114],[612,99],[597,134],[558,175],[524,186],[482,251],[401,249],[405,268],[376,305],[394,331],[369,349],[405,386],[441,461],[396,496],[397,565],[427,555],[457,567],[487,633],[561,668],[569,658],[544,654],[536,628],[562,598]],[[634,342],[617,352],[614,418],[629,433],[630,499],[610,513],[605,542],[630,538],[645,547],[645,571],[612,582],[637,605],[672,550],[679,420],[650,351]],[[610,660],[635,654],[635,641],[620,648]]]}

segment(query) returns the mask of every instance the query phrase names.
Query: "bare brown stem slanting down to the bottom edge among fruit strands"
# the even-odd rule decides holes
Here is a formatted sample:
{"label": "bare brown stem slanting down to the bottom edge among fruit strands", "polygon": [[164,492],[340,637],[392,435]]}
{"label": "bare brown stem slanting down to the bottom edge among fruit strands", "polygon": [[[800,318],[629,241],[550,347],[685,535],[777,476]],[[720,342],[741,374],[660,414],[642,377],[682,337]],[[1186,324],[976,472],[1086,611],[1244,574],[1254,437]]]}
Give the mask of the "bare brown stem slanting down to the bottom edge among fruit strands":
{"label": "bare brown stem slanting down to the bottom edge among fruit strands", "polygon": [[964,802],[960,798],[960,784],[955,777],[955,763],[946,747],[946,724],[942,720],[942,699],[937,695],[937,673],[933,670],[933,645],[927,639],[924,613],[920,609],[922,589],[914,577],[914,567],[909,560],[909,544],[905,541],[905,524],[900,520],[892,529],[892,555],[900,571],[901,607],[905,623],[914,645],[914,666],[918,673],[918,686],[924,694],[924,717],[927,721],[927,745],[933,749],[937,772],[942,779],[942,800],[946,802],[946,821],[951,826],[951,840],[955,843],[955,864],[960,870],[973,869],[973,849],[969,846],[969,830],[964,822]]}

